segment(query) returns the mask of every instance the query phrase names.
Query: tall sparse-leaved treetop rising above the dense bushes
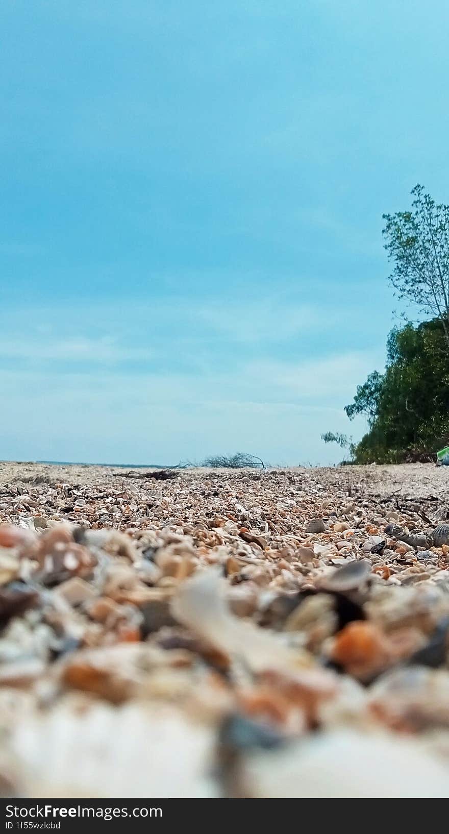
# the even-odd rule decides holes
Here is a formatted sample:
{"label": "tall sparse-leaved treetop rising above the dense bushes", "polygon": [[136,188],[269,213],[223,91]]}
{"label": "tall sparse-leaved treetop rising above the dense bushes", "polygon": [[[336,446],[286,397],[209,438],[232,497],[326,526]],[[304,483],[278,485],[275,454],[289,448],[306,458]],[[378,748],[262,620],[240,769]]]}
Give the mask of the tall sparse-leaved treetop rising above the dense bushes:
{"label": "tall sparse-leaved treetop rising above the dense bushes", "polygon": [[399,299],[441,321],[449,348],[449,206],[437,204],[422,185],[412,189],[412,211],[383,214],[390,282]]}

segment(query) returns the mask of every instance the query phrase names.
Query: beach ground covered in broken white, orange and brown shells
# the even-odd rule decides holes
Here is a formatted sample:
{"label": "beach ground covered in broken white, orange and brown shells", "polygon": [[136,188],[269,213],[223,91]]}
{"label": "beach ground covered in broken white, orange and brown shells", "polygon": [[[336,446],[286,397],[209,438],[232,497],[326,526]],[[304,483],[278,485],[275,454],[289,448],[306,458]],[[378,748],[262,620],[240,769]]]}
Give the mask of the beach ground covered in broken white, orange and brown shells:
{"label": "beach ground covered in broken white, orange and brown shells", "polygon": [[448,507],[433,465],[0,464],[2,795],[449,796]]}

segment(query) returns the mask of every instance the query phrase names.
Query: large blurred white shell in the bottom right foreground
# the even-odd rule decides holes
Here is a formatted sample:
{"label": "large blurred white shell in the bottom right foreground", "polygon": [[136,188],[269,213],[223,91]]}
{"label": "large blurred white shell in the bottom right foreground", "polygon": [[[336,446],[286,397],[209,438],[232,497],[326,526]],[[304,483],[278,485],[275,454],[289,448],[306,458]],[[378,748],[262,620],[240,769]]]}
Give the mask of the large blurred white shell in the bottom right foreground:
{"label": "large blurred white shell in the bottom right foreground", "polygon": [[[342,766],[344,762],[344,766]],[[240,763],[244,796],[271,799],[396,799],[449,796],[449,767],[420,741],[345,728],[294,745],[253,751]]]}

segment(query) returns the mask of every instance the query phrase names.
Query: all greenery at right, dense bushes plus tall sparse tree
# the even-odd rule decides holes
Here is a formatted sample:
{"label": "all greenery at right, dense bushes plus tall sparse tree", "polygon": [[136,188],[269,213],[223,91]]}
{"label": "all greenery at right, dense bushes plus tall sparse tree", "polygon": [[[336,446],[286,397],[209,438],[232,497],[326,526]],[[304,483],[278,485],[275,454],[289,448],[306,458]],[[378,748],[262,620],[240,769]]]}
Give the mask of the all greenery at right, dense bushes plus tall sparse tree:
{"label": "all greenery at right, dense bushes plus tall sparse tree", "polygon": [[322,435],[349,448],[356,463],[433,460],[449,444],[449,206],[422,185],[412,196],[412,210],[383,215],[382,234],[397,297],[432,319],[392,330],[385,374],[373,371],[346,406],[350,420],[367,417],[362,440]]}

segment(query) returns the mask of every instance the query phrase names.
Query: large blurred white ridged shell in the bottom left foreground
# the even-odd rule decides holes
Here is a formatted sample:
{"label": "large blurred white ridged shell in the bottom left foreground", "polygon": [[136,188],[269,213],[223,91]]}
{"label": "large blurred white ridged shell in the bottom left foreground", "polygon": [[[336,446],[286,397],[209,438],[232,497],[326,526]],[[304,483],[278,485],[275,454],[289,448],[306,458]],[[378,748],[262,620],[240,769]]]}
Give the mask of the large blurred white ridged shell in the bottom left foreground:
{"label": "large blurred white ridged shell in the bottom left foreground", "polygon": [[10,736],[20,796],[218,796],[212,730],[174,707],[68,701],[31,712]]}

